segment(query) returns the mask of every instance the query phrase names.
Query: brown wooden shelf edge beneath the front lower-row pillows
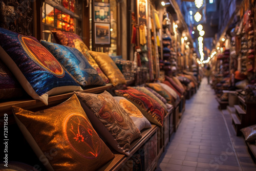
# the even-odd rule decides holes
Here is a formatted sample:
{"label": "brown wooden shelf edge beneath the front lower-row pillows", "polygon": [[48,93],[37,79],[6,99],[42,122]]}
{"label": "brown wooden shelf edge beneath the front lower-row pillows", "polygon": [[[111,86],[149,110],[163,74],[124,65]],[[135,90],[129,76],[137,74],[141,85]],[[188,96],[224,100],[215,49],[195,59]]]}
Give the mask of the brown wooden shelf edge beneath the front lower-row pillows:
{"label": "brown wooden shelf edge beneath the front lower-row pillows", "polygon": [[115,158],[111,160],[109,163],[105,164],[103,167],[101,167],[99,170],[118,170],[122,167],[122,165],[128,161],[135,152],[138,151],[138,149],[148,140],[152,137],[154,133],[156,133],[158,130],[158,126],[152,125],[150,129],[142,130],[141,135],[142,137],[132,142],[130,155],[126,156],[123,154],[115,154]]}

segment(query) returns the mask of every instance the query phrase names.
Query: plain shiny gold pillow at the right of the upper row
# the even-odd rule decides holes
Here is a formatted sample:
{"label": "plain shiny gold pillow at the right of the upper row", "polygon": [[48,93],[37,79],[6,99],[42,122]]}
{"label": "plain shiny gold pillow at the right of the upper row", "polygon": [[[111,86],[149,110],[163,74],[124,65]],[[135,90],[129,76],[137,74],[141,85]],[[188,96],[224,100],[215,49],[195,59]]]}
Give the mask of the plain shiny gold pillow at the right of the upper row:
{"label": "plain shiny gold pillow at the right of the upper row", "polygon": [[89,51],[89,53],[98,63],[103,73],[110,79],[110,83],[113,83],[114,86],[117,84],[126,84],[126,80],[122,72],[118,69],[116,63],[108,54],[94,51]]}

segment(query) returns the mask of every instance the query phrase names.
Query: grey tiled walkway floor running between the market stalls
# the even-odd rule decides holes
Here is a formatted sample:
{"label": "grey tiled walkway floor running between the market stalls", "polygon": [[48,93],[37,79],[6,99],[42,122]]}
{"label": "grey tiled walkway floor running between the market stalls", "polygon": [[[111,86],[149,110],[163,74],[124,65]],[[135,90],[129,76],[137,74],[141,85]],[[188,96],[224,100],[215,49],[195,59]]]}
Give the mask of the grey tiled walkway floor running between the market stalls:
{"label": "grey tiled walkway floor running between the market stalls", "polygon": [[159,170],[256,170],[243,137],[237,137],[229,113],[218,110],[214,90],[203,78],[186,100],[181,123],[158,161]]}

